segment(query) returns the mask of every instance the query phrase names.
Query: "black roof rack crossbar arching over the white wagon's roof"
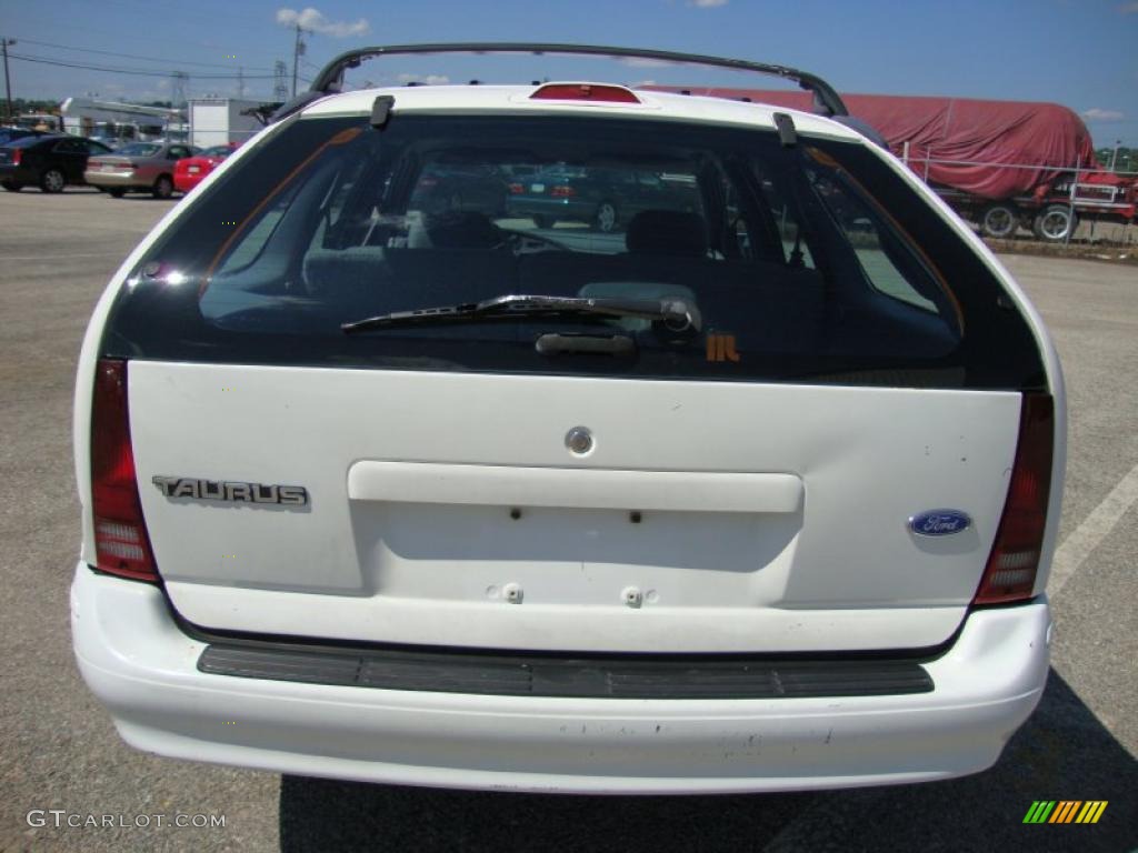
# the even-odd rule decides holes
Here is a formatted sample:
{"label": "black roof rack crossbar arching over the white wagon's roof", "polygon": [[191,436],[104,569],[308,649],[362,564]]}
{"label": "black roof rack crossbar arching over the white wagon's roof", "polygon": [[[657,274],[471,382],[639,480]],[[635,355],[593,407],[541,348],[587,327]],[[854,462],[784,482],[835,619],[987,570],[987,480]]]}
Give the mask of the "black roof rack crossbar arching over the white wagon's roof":
{"label": "black roof rack crossbar arching over the white wagon's roof", "polygon": [[[357,48],[341,53],[323,67],[310,90],[312,93],[338,92],[344,85],[344,73],[368,59],[381,56],[405,56],[409,53],[561,53],[570,56],[605,56],[627,59],[653,59],[677,65],[706,65],[715,68],[749,71],[793,81],[801,89],[814,93],[815,108],[827,116],[846,116],[849,110],[841,97],[822,77],[784,65],[751,63],[745,59],[700,53],[677,53],[670,50],[642,50],[638,48],[607,48],[595,44],[543,44],[530,42],[452,42],[444,44],[386,44]],[[283,111],[283,110],[282,110]]]}

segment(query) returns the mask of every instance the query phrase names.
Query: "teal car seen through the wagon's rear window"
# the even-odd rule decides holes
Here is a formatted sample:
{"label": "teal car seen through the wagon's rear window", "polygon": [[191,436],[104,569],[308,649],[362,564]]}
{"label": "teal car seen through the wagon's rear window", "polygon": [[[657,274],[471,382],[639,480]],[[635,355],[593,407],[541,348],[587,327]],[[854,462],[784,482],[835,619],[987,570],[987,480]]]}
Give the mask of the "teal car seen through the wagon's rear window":
{"label": "teal car seen through the wagon's rear window", "polygon": [[619,231],[640,212],[659,209],[699,213],[695,176],[558,165],[516,176],[506,197],[510,216],[528,216],[538,227],[574,221]]}

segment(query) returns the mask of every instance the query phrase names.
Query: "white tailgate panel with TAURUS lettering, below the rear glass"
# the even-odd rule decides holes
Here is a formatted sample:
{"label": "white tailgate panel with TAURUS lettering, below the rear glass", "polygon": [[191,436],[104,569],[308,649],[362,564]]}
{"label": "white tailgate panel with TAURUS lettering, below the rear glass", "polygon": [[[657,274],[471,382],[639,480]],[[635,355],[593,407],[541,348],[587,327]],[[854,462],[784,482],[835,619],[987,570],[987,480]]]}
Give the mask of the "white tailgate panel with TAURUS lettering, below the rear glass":
{"label": "white tailgate panel with TAURUS lettering, below the rear glass", "polygon": [[[1021,395],[132,362],[142,507],[212,629],[533,649],[921,648],[963,619]],[[568,430],[594,445],[571,453]],[[151,478],[303,486],[303,506]],[[873,496],[869,499],[869,496]],[[960,535],[909,516],[957,507]]]}

